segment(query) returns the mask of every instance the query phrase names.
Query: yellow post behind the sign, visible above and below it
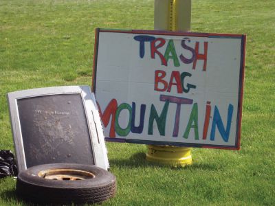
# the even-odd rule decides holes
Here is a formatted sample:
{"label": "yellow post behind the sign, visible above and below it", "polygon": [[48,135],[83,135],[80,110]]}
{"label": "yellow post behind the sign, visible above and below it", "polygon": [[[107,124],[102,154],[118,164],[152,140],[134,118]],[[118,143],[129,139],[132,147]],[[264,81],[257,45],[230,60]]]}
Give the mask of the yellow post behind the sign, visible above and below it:
{"label": "yellow post behind the sign, visible above and below it", "polygon": [[[155,0],[155,30],[188,32],[191,23],[191,0]],[[191,148],[147,146],[146,159],[164,165],[192,164]]]}

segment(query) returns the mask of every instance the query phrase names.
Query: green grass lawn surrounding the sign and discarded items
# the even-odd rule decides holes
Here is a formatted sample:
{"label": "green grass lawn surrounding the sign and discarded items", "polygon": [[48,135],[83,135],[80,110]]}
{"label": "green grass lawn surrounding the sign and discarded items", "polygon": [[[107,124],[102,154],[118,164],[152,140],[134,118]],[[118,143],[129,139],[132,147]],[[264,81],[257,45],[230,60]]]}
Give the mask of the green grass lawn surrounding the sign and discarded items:
{"label": "green grass lawn surrounding the sign and discarded items", "polygon": [[[192,165],[148,163],[108,143],[115,198],[103,205],[274,205],[275,1],[197,0],[192,31],[247,34],[241,150],[193,149]],[[0,1],[0,149],[13,149],[6,93],[91,85],[94,28],[153,30],[153,0]],[[28,205],[0,179],[0,205]]]}

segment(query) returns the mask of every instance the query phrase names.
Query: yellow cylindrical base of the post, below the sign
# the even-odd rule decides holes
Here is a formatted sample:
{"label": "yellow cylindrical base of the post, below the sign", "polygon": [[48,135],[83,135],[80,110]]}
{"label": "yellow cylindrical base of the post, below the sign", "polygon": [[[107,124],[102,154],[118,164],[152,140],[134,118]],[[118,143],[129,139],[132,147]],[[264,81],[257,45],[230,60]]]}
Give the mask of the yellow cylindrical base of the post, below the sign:
{"label": "yellow cylindrical base of the post, below the sign", "polygon": [[192,164],[191,148],[176,146],[147,146],[146,160],[173,167]]}

